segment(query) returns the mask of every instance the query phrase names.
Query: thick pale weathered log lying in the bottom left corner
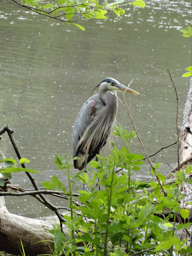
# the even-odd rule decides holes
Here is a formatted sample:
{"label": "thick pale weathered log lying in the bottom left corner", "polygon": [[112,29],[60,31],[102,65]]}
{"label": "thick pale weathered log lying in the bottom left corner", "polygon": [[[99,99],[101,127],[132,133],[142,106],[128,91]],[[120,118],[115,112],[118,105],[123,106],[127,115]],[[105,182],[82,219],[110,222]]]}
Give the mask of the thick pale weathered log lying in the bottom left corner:
{"label": "thick pale weathered log lying in the bottom left corner", "polygon": [[[0,159],[4,156],[0,151]],[[1,166],[0,166],[1,167]],[[54,223],[54,218],[52,219]],[[20,239],[23,243],[26,255],[36,256],[37,254],[50,253],[50,247],[53,247],[51,229],[51,220],[32,219],[8,212],[4,197],[0,196],[0,250],[8,253],[19,253]],[[49,239],[50,241],[38,242]]]}

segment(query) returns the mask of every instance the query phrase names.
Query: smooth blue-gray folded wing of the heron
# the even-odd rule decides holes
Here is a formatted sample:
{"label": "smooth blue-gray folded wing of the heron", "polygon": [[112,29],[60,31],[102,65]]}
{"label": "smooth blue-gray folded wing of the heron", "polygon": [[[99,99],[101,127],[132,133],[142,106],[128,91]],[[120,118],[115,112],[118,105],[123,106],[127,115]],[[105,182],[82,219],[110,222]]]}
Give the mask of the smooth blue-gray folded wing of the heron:
{"label": "smooth blue-gray folded wing of the heron", "polygon": [[73,157],[76,156],[76,146],[82,137],[85,129],[90,124],[92,115],[94,114],[95,95],[90,97],[81,107],[74,124],[73,129]]}

